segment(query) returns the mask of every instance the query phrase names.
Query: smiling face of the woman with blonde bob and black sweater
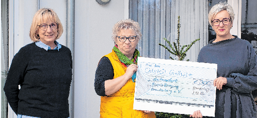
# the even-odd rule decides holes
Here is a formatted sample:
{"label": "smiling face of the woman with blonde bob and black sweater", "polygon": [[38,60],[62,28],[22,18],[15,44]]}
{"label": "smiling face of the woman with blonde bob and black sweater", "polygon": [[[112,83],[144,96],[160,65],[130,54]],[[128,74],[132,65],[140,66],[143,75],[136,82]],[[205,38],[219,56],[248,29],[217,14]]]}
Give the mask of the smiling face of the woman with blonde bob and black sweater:
{"label": "smiling face of the woman with blonde bob and black sweater", "polygon": [[47,19],[43,18],[42,23],[47,24],[48,27],[45,30],[42,30],[40,27],[37,29],[37,34],[39,35],[39,39],[43,43],[52,47],[53,45],[55,45],[54,40],[56,40],[56,37],[57,37],[57,34],[58,34],[58,32],[57,32],[58,28],[56,28],[56,29],[50,28],[49,25],[51,23],[55,23],[55,22],[50,20],[49,18],[47,18]]}

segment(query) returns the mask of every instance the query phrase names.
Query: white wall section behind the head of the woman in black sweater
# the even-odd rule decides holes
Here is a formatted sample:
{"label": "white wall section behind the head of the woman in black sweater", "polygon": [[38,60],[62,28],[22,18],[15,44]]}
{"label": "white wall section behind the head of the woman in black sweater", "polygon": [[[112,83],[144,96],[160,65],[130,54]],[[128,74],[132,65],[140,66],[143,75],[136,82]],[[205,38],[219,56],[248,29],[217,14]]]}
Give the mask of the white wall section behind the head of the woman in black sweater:
{"label": "white wall section behind the head of the woman in black sweater", "polygon": [[[14,44],[14,50],[11,51],[14,52],[14,54],[17,53],[21,47],[32,42],[29,31],[33,16],[37,12],[37,7],[37,0],[9,1],[9,42],[10,44]],[[57,41],[65,45],[66,2],[63,0],[55,0],[55,2],[52,0],[40,0],[40,8],[43,7],[52,8],[63,23],[64,31]],[[10,57],[12,61],[13,56]]]}

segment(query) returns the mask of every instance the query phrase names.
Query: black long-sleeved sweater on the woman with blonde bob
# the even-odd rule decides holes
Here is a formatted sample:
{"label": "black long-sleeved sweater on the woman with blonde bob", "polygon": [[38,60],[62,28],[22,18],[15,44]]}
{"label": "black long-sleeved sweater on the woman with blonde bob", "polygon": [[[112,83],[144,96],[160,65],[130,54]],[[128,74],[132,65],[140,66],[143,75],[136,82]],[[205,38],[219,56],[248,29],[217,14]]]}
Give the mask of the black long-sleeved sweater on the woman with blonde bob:
{"label": "black long-sleeved sweater on the woman with blonde bob", "polygon": [[22,47],[4,87],[10,106],[16,114],[69,117],[71,69],[71,52],[63,45],[59,50],[45,50],[35,42]]}

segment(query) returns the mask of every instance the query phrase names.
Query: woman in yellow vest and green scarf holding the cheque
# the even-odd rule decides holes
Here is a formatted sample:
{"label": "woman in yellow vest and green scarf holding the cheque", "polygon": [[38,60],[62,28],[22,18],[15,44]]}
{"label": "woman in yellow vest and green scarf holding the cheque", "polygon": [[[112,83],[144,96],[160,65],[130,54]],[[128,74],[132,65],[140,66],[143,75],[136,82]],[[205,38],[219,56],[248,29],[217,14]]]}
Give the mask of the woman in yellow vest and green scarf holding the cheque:
{"label": "woman in yellow vest and green scarf holding the cheque", "polygon": [[133,109],[140,30],[138,22],[131,19],[121,20],[113,27],[115,45],[111,53],[101,58],[96,70],[95,90],[101,96],[100,117],[155,117],[153,111]]}

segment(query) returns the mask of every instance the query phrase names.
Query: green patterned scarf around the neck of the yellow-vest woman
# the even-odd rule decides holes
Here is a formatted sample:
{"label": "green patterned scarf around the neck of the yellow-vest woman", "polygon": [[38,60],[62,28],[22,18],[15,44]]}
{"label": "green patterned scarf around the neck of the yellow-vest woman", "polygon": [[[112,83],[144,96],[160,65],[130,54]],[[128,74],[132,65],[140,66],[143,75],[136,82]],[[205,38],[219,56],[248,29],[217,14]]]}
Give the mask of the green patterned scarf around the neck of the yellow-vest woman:
{"label": "green patterned scarf around the neck of the yellow-vest woman", "polygon": [[[119,57],[119,60],[125,67],[129,66],[132,63],[137,65],[137,57],[140,55],[137,49],[135,49],[133,58],[131,60],[119,50],[117,45],[113,46],[113,50],[115,51],[116,55]],[[133,82],[135,82],[135,78],[136,72],[132,75]]]}

